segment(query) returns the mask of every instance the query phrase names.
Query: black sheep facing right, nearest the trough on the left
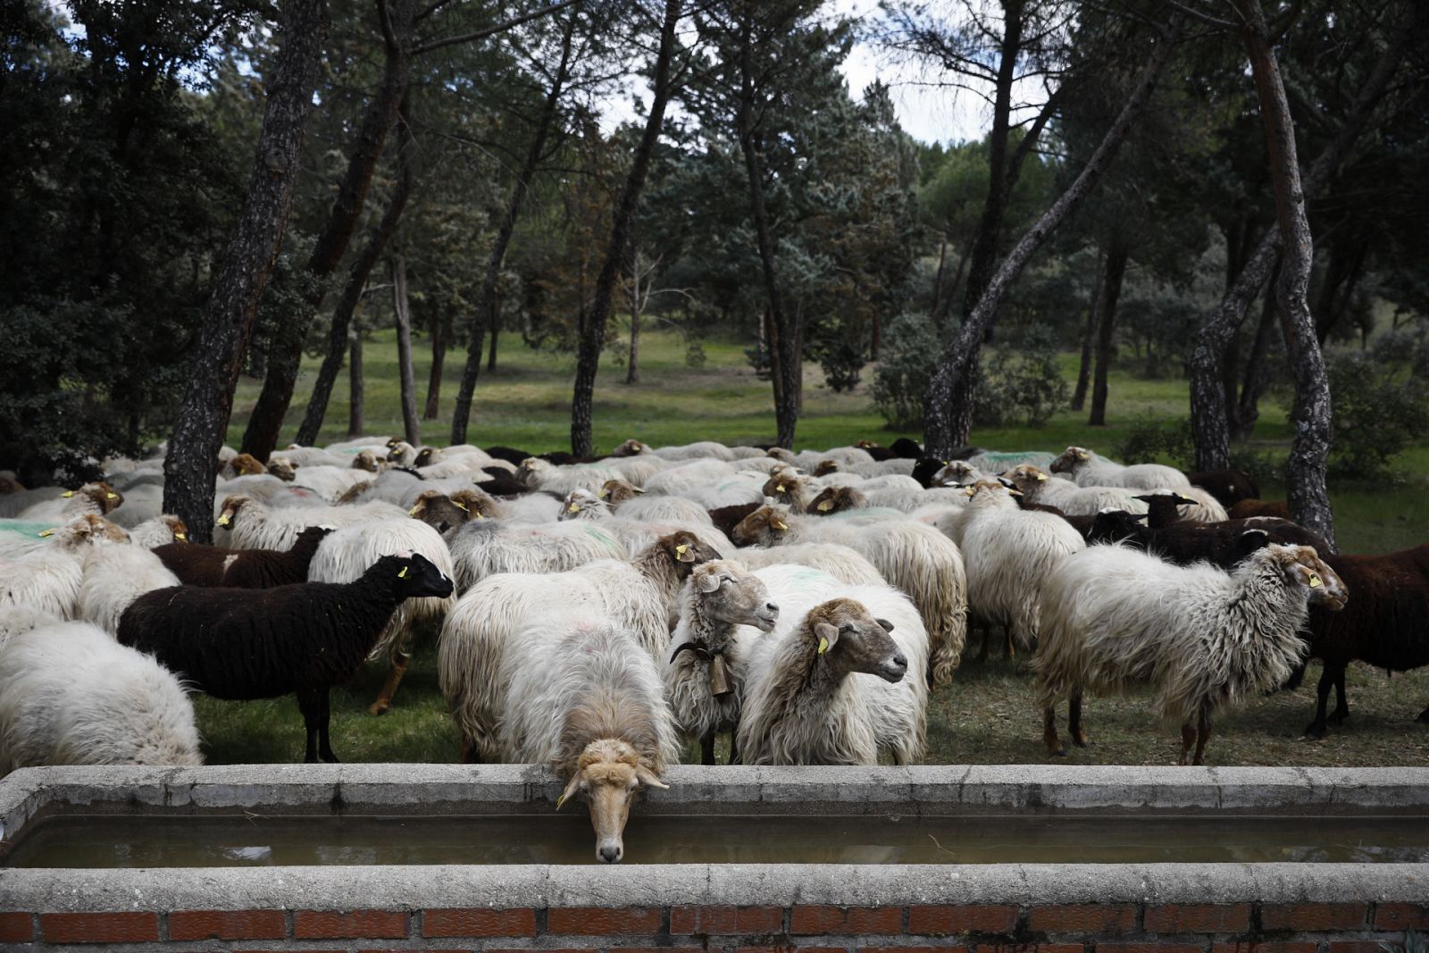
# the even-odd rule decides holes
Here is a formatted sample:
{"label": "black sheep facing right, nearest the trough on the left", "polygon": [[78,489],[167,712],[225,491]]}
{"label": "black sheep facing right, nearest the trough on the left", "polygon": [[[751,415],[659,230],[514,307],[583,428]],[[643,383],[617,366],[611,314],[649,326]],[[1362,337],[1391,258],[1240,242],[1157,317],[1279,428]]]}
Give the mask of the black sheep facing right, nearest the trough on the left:
{"label": "black sheep facing right, nearest the trough on the left", "polygon": [[151,653],[216,699],[290,692],[307,729],[306,759],[336,762],[327,740],[329,690],[353,677],[407,599],[452,594],[452,580],[419,553],[383,556],[352,583],[276,589],[156,589],[119,620],[119,642]]}

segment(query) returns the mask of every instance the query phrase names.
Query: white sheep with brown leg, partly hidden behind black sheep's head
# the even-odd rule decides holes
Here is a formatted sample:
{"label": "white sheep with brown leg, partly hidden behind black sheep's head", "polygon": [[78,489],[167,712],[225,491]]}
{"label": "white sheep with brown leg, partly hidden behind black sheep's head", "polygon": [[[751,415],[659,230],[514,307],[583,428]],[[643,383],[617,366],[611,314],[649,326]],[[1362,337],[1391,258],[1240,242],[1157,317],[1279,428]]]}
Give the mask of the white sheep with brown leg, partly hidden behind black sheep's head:
{"label": "white sheep with brown leg, partly hidden behind black sheep's head", "polygon": [[[394,520],[372,520],[356,526],[343,527],[329,533],[313,560],[307,564],[307,582],[310,583],[350,583],[359,579],[367,569],[383,556],[394,553],[420,553],[447,579],[456,579],[456,567],[452,562],[452,550],[447,549],[442,534],[423,523],[409,517]],[[446,599],[424,596],[420,599],[403,600],[387,627],[382,630],[377,643],[369,653],[369,659],[387,660],[387,677],[383,682],[377,700],[367,709],[373,714],[382,714],[392,707],[392,696],[396,694],[402,676],[412,660],[412,639],[420,626],[439,626],[452,606],[456,604],[456,593]]]}

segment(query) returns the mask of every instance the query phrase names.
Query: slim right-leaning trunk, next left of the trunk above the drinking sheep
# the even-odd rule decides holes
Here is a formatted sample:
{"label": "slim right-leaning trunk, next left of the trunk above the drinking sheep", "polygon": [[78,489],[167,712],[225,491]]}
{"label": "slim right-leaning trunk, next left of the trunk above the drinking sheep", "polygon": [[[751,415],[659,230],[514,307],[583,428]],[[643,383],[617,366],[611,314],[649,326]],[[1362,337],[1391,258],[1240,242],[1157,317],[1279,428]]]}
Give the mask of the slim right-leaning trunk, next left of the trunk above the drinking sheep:
{"label": "slim right-leaning trunk, next left of the trunk above the drinking sheep", "polygon": [[512,194],[506,200],[506,214],[502,216],[502,224],[496,230],[492,254],[486,259],[486,274],[482,276],[482,293],[476,299],[476,307],[472,309],[472,326],[467,330],[466,366],[462,369],[462,384],[457,387],[456,407],[452,411],[452,443],[466,443],[466,429],[472,419],[472,399],[476,394],[476,380],[482,374],[483,327],[492,329],[490,370],[496,370],[496,284],[502,277],[502,261],[506,260],[506,247],[512,243],[512,234],[516,231],[516,219],[520,216],[526,193],[530,190],[532,176],[536,174],[536,166],[540,164],[542,156],[546,153],[546,140],[550,136],[552,126],[556,124],[560,94],[564,91],[566,80],[570,76],[570,49],[576,34],[577,16],[579,13],[572,13],[566,20],[566,31],[560,37],[560,63],[556,67],[556,76],[552,79],[550,90],[546,93],[540,119],[536,120],[536,129],[532,130],[532,143],[530,149],[526,150],[526,160],[522,163],[522,170],[512,184]]}

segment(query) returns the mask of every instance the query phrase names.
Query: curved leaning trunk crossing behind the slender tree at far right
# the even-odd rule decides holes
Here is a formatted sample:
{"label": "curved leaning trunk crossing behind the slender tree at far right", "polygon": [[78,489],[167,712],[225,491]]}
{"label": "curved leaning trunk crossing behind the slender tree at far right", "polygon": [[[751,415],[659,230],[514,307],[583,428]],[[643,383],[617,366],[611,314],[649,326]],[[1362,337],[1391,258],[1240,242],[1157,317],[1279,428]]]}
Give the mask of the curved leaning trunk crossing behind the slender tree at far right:
{"label": "curved leaning trunk crossing behind the slender tree at far right", "polygon": [[[1400,7],[1399,29],[1395,30],[1385,51],[1380,53],[1355,104],[1343,124],[1325,151],[1319,154],[1310,171],[1300,181],[1305,201],[1313,200],[1329,183],[1330,176],[1345,160],[1350,146],[1359,137],[1370,110],[1385,94],[1393,79],[1395,69],[1403,56],[1408,39],[1418,30],[1423,16],[1422,4],[1406,3]],[[1280,251],[1280,233],[1268,230],[1255,251],[1246,259],[1245,267],[1232,283],[1220,304],[1196,331],[1190,353],[1190,430],[1196,443],[1196,469],[1219,470],[1230,466],[1230,419],[1226,407],[1222,361],[1236,331],[1245,321],[1246,310],[1270,277],[1276,256]],[[1282,319],[1283,320],[1283,319]]]}

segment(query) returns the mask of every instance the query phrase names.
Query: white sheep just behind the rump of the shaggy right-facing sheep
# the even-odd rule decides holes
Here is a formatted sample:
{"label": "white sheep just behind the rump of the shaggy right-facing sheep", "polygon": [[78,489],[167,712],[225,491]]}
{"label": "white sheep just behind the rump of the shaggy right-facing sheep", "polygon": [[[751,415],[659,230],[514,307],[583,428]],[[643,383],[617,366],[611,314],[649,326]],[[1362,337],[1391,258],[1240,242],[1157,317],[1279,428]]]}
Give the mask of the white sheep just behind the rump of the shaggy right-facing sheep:
{"label": "white sheep just behind the rump of the shaggy right-facing sheep", "polygon": [[1086,542],[1056,513],[1020,509],[1000,483],[983,480],[972,489],[962,533],[967,609],[1007,627],[1012,654],[1013,644],[1036,643],[1042,580]]}

